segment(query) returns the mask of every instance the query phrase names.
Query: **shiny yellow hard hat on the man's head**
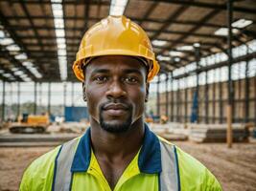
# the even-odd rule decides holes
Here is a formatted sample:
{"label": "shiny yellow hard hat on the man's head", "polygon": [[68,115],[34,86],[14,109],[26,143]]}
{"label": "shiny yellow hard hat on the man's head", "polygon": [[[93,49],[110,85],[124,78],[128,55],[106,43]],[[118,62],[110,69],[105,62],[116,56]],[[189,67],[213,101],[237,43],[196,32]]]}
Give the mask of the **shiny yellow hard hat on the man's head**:
{"label": "shiny yellow hard hat on the man's head", "polygon": [[100,55],[130,55],[145,58],[149,66],[148,81],[159,72],[146,32],[125,16],[108,16],[92,26],[81,39],[73,71],[83,81],[82,68],[87,58]]}

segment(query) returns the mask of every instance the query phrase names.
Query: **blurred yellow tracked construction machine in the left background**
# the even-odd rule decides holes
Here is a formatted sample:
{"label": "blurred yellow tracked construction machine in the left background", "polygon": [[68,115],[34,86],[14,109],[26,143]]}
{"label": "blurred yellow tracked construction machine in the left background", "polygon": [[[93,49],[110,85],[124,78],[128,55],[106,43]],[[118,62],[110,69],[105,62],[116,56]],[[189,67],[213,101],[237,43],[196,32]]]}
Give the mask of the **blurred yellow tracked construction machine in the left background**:
{"label": "blurred yellow tracked construction machine in the left background", "polygon": [[17,118],[17,122],[12,122],[10,132],[13,134],[41,134],[45,133],[50,125],[48,114],[39,116],[23,114]]}

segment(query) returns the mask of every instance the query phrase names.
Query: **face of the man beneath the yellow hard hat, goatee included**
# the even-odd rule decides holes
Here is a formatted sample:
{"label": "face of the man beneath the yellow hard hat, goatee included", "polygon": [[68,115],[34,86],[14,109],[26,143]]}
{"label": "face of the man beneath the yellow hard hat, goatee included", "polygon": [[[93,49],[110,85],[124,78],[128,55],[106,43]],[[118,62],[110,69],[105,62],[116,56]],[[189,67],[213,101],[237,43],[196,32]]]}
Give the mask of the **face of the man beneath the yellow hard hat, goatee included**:
{"label": "face of the man beneath the yellow hard hat, goatee included", "polygon": [[85,69],[83,94],[90,116],[105,131],[122,133],[143,116],[147,70],[131,56],[94,58]]}

